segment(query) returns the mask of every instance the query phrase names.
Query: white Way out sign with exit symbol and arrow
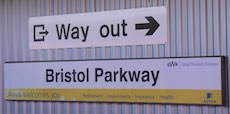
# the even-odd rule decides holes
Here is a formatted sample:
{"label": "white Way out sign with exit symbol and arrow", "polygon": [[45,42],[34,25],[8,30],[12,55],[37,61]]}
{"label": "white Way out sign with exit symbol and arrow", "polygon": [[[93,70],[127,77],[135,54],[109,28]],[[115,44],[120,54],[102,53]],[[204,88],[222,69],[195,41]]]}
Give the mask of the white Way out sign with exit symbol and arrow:
{"label": "white Way out sign with exit symbol and arrow", "polygon": [[31,49],[164,44],[166,7],[32,17]]}

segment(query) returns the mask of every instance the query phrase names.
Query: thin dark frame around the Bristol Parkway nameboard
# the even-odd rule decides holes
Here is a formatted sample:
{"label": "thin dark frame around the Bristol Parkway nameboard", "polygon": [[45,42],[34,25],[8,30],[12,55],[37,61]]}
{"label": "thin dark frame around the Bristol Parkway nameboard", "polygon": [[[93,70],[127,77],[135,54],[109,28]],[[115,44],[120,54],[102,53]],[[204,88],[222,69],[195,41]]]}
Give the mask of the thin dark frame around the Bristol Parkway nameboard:
{"label": "thin dark frame around the Bristol Parkway nameboard", "polygon": [[[222,103],[221,104],[200,104],[197,103],[198,105],[226,105],[226,85],[227,85],[227,80],[226,80],[226,74],[227,74],[227,58],[225,56],[202,56],[202,57],[169,57],[169,58],[124,58],[124,59],[96,59],[96,60],[52,60],[52,61],[19,61],[19,62],[6,62],[5,64],[11,64],[11,63],[36,63],[36,62],[88,62],[88,61],[116,61],[116,60],[151,60],[151,59],[183,59],[183,58],[213,58],[213,57],[217,57],[221,59],[221,98],[222,98]],[[6,77],[6,76],[5,76]],[[6,83],[6,82],[5,82]],[[123,91],[124,92],[124,91]],[[146,91],[144,91],[146,92]],[[5,98],[6,100],[28,100],[28,99],[7,99],[7,92],[5,90]],[[30,99],[29,99],[30,100]],[[32,99],[34,100],[34,99]],[[35,99],[36,100],[36,99]],[[37,101],[37,100],[36,100]],[[44,100],[38,100],[38,101],[44,101]],[[48,101],[69,101],[69,100],[48,100]],[[70,101],[79,101],[79,102],[128,102],[128,103],[157,103],[157,104],[190,104],[190,103],[177,103],[177,102],[141,102],[141,101],[137,101],[137,102],[133,102],[133,101],[106,101],[106,100],[70,100]],[[191,104],[196,104],[196,103],[191,103]]]}

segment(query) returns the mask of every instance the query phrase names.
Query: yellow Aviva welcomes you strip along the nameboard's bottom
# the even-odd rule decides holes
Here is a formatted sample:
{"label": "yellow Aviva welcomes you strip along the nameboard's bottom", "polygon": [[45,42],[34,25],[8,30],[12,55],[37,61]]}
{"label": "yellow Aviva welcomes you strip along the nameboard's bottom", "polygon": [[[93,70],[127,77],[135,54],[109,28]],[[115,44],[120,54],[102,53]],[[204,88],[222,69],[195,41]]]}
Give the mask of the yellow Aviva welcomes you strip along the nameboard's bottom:
{"label": "yellow Aviva welcomes you strip along the nameboard's bottom", "polygon": [[221,105],[221,90],[5,89],[7,100],[99,101]]}

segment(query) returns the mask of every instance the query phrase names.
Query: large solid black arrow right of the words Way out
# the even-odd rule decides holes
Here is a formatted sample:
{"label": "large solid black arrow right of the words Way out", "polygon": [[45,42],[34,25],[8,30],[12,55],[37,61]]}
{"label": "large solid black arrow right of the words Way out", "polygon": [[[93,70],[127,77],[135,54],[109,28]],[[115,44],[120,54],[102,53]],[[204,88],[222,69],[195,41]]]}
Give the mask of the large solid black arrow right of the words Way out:
{"label": "large solid black arrow right of the words Way out", "polygon": [[147,35],[153,35],[153,33],[157,30],[157,28],[160,26],[159,23],[157,23],[157,21],[152,17],[145,17],[149,23],[139,23],[136,24],[136,30],[139,29],[149,29],[149,31],[146,33]]}

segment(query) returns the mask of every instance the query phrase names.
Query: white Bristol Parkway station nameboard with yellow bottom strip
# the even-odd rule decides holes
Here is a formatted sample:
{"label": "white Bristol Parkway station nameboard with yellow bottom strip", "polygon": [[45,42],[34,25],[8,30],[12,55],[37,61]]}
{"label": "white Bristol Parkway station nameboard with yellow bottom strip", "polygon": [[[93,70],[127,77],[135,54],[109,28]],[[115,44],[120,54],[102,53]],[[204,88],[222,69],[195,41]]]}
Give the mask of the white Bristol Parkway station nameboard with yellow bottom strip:
{"label": "white Bristol Parkway station nameboard with yellow bottom strip", "polygon": [[224,57],[5,63],[5,99],[222,105]]}

